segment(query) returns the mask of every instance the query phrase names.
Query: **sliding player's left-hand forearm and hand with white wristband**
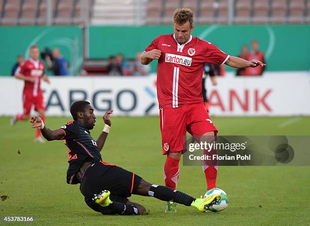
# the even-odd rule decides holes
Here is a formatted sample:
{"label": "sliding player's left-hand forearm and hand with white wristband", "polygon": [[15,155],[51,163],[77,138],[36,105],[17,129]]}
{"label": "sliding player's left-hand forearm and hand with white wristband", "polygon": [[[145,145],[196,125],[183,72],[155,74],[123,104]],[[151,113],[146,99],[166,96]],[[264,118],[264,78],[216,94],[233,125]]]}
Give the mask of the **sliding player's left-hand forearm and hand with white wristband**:
{"label": "sliding player's left-hand forearm and hand with white wristband", "polygon": [[40,128],[43,137],[48,141],[61,140],[65,136],[63,129],[51,130],[46,127],[40,117],[32,117],[30,120],[32,128]]}

